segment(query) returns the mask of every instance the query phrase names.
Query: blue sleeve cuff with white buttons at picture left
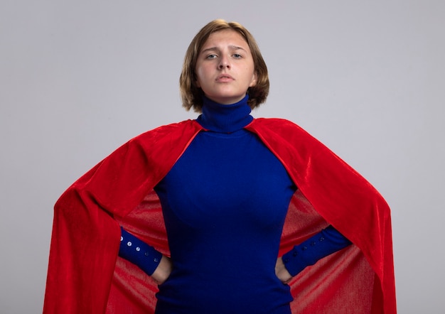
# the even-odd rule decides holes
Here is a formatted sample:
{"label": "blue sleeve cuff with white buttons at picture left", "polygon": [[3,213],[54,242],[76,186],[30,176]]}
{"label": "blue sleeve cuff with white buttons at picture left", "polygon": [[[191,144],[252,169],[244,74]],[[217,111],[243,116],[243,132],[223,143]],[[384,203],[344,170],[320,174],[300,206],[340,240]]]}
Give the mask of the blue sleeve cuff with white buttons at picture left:
{"label": "blue sleeve cuff with white buttons at picture left", "polygon": [[142,269],[147,275],[151,276],[161,261],[162,254],[156,251],[149,244],[141,239],[134,237],[121,227],[121,244],[119,247],[119,256],[131,261]]}

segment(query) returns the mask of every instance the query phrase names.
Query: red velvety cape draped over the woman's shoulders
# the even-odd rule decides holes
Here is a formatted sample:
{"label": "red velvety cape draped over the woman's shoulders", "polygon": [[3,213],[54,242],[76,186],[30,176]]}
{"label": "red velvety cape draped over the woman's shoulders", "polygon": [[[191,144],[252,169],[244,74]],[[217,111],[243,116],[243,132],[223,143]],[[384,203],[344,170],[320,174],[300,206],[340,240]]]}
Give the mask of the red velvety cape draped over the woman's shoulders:
{"label": "red velvety cape draped over the woman's shoulders", "polygon": [[[396,313],[385,200],[290,121],[254,119],[246,129],[262,139],[299,187],[279,254],[328,224],[353,242],[292,279],[292,313]],[[119,224],[168,255],[153,188],[202,130],[188,120],[136,136],[63,193],[55,204],[43,313],[154,312],[156,283],[117,256]]]}

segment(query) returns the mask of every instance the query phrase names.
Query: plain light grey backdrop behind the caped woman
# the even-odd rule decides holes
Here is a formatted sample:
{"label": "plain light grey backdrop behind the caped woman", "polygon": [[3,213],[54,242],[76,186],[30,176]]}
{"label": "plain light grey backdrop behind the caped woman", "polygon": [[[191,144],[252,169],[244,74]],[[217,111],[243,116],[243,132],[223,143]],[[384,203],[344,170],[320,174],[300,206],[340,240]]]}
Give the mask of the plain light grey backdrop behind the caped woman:
{"label": "plain light grey backdrop behind the caped woman", "polygon": [[214,18],[257,38],[255,117],[303,126],[392,207],[399,313],[445,313],[445,2],[0,2],[0,313],[41,313],[53,204],[155,126],[194,118],[178,75]]}

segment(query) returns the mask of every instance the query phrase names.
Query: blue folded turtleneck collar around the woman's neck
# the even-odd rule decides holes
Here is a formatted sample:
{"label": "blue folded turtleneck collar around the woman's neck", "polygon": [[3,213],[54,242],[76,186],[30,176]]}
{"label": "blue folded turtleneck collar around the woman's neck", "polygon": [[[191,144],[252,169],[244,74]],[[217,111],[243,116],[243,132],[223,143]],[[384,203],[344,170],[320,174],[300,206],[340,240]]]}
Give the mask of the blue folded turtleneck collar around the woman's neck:
{"label": "blue folded turtleneck collar around the woman's neck", "polygon": [[249,95],[235,104],[218,104],[203,96],[203,113],[200,114],[198,123],[204,129],[220,133],[232,133],[238,131],[253,120],[252,111],[247,104]]}

